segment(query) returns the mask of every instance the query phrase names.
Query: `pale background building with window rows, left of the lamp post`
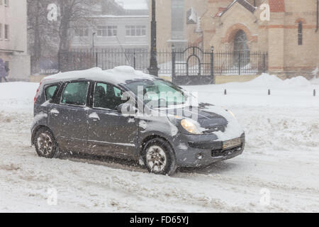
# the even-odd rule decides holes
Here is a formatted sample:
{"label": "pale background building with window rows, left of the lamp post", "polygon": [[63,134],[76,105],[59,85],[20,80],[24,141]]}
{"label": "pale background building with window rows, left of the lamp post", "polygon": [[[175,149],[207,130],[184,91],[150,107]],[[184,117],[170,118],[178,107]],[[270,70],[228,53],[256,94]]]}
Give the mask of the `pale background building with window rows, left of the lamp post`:
{"label": "pale background building with window rows, left of the lamp post", "polygon": [[89,17],[86,26],[79,26],[73,33],[72,49],[148,50],[150,18],[148,9],[106,11],[108,6]]}

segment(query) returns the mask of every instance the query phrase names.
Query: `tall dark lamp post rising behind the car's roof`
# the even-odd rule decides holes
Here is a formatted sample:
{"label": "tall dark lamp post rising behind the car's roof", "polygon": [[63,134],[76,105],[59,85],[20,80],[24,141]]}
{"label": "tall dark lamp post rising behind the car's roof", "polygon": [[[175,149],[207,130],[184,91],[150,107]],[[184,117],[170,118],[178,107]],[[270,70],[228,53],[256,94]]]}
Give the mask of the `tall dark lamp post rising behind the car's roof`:
{"label": "tall dark lamp post rising behind the car's roof", "polygon": [[155,0],[152,0],[152,21],[151,21],[151,50],[150,50],[150,67],[148,72],[158,77],[159,68],[157,67],[157,49],[156,49],[156,4]]}

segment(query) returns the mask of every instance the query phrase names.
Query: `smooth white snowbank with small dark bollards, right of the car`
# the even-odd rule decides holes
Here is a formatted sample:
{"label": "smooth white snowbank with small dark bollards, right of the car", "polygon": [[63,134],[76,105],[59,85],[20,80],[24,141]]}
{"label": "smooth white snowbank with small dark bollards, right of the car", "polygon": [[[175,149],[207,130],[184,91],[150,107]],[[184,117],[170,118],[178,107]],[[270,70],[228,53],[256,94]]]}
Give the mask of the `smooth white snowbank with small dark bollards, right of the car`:
{"label": "smooth white snowbank with small dark bollards, right of the car", "polygon": [[[308,81],[304,77],[282,80],[262,74],[256,79],[240,83],[188,86],[198,92],[200,101],[220,106],[318,107],[319,79]],[[225,89],[227,95],[224,95]],[[268,96],[270,89],[271,96]],[[317,96],[313,97],[313,90]]]}

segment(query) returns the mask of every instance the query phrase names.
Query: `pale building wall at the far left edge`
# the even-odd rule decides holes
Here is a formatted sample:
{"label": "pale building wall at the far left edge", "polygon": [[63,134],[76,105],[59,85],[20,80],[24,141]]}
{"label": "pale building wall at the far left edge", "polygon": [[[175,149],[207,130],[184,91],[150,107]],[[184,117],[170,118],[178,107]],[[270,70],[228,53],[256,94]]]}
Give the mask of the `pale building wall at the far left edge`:
{"label": "pale building wall at the far left edge", "polygon": [[0,0],[0,57],[10,69],[7,79],[29,80],[26,0]]}

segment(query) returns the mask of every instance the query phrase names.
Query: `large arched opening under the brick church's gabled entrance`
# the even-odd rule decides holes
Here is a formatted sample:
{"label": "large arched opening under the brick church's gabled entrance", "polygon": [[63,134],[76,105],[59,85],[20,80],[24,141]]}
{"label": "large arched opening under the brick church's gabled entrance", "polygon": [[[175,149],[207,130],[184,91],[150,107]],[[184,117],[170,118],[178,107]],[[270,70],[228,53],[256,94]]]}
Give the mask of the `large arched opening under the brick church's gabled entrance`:
{"label": "large arched opening under the brick church's gabled entrance", "polygon": [[237,31],[234,38],[234,65],[245,67],[250,63],[250,48],[247,45],[247,35],[244,31]]}

